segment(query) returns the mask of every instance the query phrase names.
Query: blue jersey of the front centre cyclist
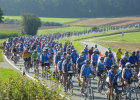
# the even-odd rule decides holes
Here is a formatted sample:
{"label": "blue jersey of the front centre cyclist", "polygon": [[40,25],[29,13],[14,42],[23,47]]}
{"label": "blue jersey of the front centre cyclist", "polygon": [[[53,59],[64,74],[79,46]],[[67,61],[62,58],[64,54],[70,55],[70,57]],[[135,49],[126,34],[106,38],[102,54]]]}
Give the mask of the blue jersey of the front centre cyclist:
{"label": "blue jersey of the front centre cyclist", "polygon": [[84,77],[88,77],[91,74],[91,72],[93,72],[93,71],[94,71],[94,69],[90,65],[88,67],[86,67],[84,64],[81,68],[82,76],[84,76]]}

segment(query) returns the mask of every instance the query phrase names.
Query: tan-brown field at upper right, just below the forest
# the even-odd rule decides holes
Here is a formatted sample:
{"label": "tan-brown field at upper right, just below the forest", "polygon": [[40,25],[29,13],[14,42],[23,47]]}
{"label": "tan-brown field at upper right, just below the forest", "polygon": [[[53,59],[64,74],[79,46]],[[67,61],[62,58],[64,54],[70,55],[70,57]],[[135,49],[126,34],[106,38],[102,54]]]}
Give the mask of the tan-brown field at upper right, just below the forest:
{"label": "tan-brown field at upper right, just below the forest", "polygon": [[122,26],[134,23],[140,23],[140,17],[120,17],[120,18],[89,18],[71,23],[71,25],[87,25],[87,26],[102,26],[113,25]]}

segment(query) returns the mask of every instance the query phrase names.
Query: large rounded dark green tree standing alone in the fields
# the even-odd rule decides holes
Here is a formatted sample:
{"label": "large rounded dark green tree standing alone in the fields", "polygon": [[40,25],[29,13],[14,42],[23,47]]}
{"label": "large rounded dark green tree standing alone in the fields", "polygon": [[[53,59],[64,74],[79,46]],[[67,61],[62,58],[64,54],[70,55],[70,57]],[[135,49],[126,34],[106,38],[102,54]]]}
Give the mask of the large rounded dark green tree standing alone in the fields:
{"label": "large rounded dark green tree standing alone in the fields", "polygon": [[22,30],[28,35],[36,35],[38,28],[41,26],[39,17],[33,14],[22,15]]}

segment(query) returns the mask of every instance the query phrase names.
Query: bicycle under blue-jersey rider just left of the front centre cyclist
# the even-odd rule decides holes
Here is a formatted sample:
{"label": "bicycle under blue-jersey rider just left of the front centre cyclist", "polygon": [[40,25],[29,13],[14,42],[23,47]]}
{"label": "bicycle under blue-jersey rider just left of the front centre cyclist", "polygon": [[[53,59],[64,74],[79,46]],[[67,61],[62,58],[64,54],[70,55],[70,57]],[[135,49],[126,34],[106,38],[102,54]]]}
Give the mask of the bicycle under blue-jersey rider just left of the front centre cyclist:
{"label": "bicycle under blue-jersey rider just left of the front centre cyclist", "polygon": [[66,92],[72,92],[73,91],[73,82],[71,80],[71,77],[73,75],[73,71],[68,71],[67,73],[67,79],[66,79]]}

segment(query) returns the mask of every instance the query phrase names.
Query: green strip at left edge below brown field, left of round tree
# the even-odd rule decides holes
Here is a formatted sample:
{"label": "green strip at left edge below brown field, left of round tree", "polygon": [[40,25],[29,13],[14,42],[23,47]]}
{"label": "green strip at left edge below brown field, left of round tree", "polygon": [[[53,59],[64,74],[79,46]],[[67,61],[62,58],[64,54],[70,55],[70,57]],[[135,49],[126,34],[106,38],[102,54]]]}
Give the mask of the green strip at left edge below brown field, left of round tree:
{"label": "green strip at left edge below brown field, left of round tree", "polygon": [[0,29],[0,39],[7,38],[7,37],[16,37],[16,36],[21,36],[20,30]]}

